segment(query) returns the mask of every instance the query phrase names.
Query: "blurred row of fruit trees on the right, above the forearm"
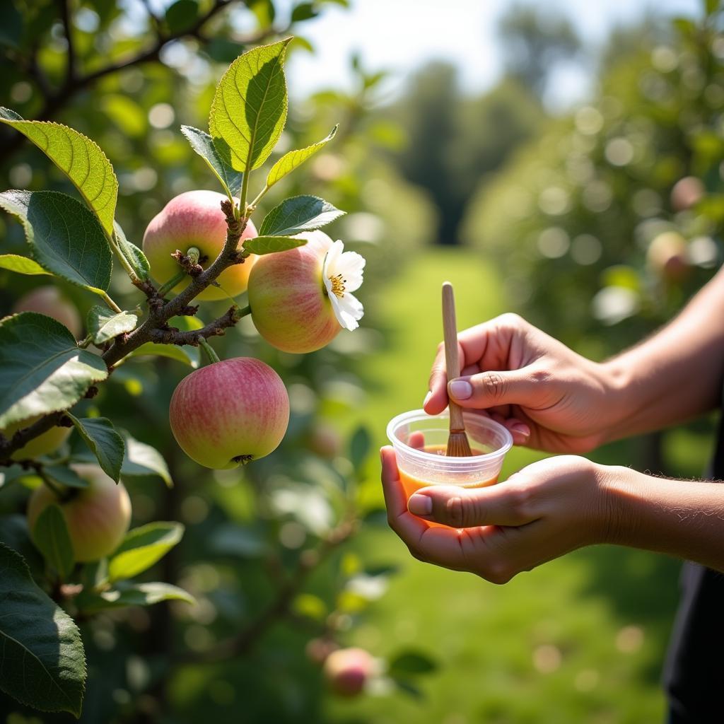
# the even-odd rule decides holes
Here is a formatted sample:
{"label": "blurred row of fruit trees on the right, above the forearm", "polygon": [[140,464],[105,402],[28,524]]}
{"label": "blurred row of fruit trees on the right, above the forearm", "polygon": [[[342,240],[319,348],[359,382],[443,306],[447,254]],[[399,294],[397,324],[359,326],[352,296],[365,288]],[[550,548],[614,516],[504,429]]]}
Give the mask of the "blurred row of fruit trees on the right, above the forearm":
{"label": "blurred row of fruit trees on the right, above the forearm", "polygon": [[[722,260],[724,16],[703,5],[615,33],[597,95],[482,183],[463,222],[518,311],[595,358],[670,319]],[[662,469],[658,443],[645,460]]]}

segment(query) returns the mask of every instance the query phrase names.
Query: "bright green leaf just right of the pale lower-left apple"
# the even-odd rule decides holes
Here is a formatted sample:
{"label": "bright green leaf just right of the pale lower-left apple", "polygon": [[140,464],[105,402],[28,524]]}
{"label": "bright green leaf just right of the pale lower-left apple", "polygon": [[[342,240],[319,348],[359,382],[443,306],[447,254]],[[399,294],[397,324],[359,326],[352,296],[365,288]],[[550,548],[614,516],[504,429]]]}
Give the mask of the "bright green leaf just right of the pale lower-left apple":
{"label": "bright green leaf just right of the pale lower-left apple", "polygon": [[183,536],[181,523],[148,523],[128,531],[109,561],[109,581],[133,578],[160,560]]}

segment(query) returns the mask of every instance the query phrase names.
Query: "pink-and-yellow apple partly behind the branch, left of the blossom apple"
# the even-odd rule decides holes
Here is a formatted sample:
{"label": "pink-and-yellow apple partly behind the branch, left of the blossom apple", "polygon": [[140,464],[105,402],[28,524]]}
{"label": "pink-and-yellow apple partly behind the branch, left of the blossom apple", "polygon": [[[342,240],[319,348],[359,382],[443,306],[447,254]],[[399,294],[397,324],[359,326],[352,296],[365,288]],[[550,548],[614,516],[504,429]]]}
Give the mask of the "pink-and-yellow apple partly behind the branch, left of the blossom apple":
{"label": "pink-and-yellow apple partly behind the branch, left of the blossom apple", "polygon": [[[198,249],[199,264],[206,269],[214,263],[224,248],[227,237],[227,222],[221,208],[227,199],[216,191],[186,191],[169,201],[146,228],[143,235],[143,252],[151,263],[151,271],[157,282],[165,284],[181,271],[178,262],[171,256],[174,251],[186,253],[190,248]],[[256,237],[256,228],[248,221],[241,235],[241,241]],[[216,282],[220,287],[207,287],[197,299],[214,300],[235,297],[246,290],[249,271],[256,256],[248,256],[243,264],[235,264],[222,271]],[[183,279],[174,287],[180,292],[188,286],[190,279]]]}

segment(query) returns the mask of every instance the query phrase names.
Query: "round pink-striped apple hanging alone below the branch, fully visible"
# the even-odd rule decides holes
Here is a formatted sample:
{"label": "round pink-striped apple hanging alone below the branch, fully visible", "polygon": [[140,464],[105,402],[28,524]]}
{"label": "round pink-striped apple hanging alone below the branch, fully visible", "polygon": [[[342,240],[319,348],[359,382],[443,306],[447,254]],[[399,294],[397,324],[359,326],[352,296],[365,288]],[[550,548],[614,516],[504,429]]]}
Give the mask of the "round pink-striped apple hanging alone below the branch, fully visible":
{"label": "round pink-striped apple hanging alone below the branch, fully visible", "polygon": [[257,359],[237,357],[184,377],[169,409],[181,449],[206,468],[230,470],[276,450],[289,424],[282,378]]}

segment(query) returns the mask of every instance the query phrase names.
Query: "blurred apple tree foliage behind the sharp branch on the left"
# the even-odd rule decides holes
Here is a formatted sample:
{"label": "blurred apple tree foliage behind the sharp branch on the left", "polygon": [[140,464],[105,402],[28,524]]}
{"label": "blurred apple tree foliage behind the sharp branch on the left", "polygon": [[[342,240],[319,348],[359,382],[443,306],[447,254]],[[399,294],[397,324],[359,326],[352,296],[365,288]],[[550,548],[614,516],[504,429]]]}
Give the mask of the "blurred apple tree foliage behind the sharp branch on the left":
{"label": "blurred apple tree foliage behind the sharp branch on the left", "polygon": [[[177,0],[164,12],[158,12],[159,4],[113,0],[3,3],[0,62],[9,89],[4,102],[26,119],[52,119],[96,140],[119,180],[116,218],[128,239],[140,245],[146,224],[170,198],[217,188],[180,125],[206,127],[219,77],[244,51],[290,33],[295,34],[292,56],[313,51],[303,38],[304,22],[324,12],[329,2],[299,2],[290,10],[285,6],[288,12],[271,0]],[[323,193],[348,211],[329,233],[368,258],[366,302],[390,273],[391,258],[402,262],[429,241],[434,212],[424,194],[371,152],[399,143],[400,130],[371,113],[382,73],[363,69],[358,59],[352,63],[358,80],[353,92],[329,90],[304,101],[292,96],[287,127],[270,164],[293,148],[316,143],[334,125],[339,129],[334,142],[295,177],[272,188],[259,204],[258,218],[299,193]],[[19,133],[4,127],[0,146],[3,188],[77,195],[70,180]],[[0,236],[3,253],[26,253],[23,230],[10,216],[1,217]],[[384,246],[383,258],[382,246],[390,238],[395,244]],[[75,316],[78,324],[79,312],[85,319],[96,302],[93,295],[60,279],[53,284],[61,296],[43,294],[59,315],[70,309],[64,323],[72,327]],[[1,315],[17,311],[28,303],[23,302],[28,292],[47,285],[48,277],[0,270]],[[119,264],[108,293],[124,309],[144,303]],[[203,303],[199,316],[208,323],[228,305]],[[80,420],[104,416],[129,431],[122,477],[132,500],[132,525],[180,521],[185,526],[180,542],[180,528],[164,529],[165,541],[156,529],[160,547],[154,550],[165,555],[156,563],[147,560],[153,565],[139,572],[138,581],[180,586],[195,599],[193,606],[160,595],[146,597],[147,603],[161,599],[148,608],[108,607],[99,613],[88,608],[83,613],[73,600],[79,589],[63,587],[52,574],[62,562],[55,560],[55,568],[43,562],[25,521],[28,487],[41,484],[35,473],[45,475],[49,460],[35,468],[0,471],[0,541],[22,552],[43,589],[77,616],[88,661],[81,721],[214,717],[224,722],[237,720],[240,707],[250,721],[321,720],[321,662],[344,646],[350,628],[384,594],[394,572],[379,560],[372,565],[345,550],[361,525],[384,521],[379,510],[369,510],[358,499],[369,463],[369,435],[349,429],[345,419],[364,394],[355,370],[379,344],[375,326],[373,311],[363,329],[340,334],[311,355],[271,348],[248,319],[224,337],[214,337],[222,358],[244,355],[269,363],[290,396],[284,442],[271,458],[243,471],[199,467],[182,455],[169,431],[169,399],[177,383],[201,364],[198,347],[175,347],[166,350],[168,357],[134,357],[98,386],[95,397],[74,408]],[[79,338],[83,334],[77,332]],[[68,455],[79,455],[79,446],[83,442],[74,433],[56,453],[56,462],[62,465]],[[143,463],[139,452],[146,455]],[[68,577],[73,585],[89,588],[99,580],[103,574],[93,578],[90,568],[75,567]],[[387,665],[355,656],[350,663],[358,668],[351,676],[354,686],[369,679],[372,669],[379,678],[386,668],[388,682],[399,681],[410,691],[419,672],[434,668],[423,654],[409,650]],[[337,659],[326,672],[333,686],[340,666]],[[17,722],[36,716],[4,694],[0,712]],[[42,720],[70,717],[43,714]]]}

